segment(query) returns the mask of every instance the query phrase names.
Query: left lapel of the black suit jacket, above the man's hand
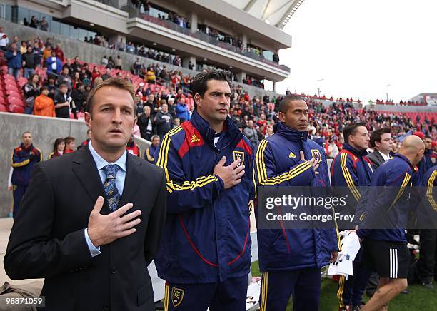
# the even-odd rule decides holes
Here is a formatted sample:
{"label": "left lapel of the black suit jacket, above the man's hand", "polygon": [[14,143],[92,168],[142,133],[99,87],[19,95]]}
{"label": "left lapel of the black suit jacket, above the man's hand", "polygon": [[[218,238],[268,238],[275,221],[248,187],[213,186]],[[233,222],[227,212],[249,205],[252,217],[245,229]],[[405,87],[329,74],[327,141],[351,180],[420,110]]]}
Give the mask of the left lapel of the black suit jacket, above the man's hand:
{"label": "left lapel of the black suit jacket, above the man's hand", "polygon": [[[104,207],[101,213],[109,213],[108,200],[106,200],[106,194],[101,183],[99,171],[97,170],[94,158],[89,151],[88,146],[76,151],[73,160],[73,172],[79,179],[80,183],[84,187],[84,190],[89,195],[89,198],[96,203],[97,198],[101,195],[104,200]],[[94,208],[94,205],[91,207]]]}

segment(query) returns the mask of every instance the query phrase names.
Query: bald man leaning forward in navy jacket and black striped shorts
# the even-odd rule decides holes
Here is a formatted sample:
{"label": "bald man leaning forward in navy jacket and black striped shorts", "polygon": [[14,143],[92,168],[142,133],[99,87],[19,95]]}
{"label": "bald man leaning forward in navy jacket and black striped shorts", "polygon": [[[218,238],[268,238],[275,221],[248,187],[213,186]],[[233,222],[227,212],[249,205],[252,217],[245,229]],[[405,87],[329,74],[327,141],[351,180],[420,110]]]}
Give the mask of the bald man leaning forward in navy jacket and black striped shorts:
{"label": "bald man leaning forward in navy jacket and black striped shorts", "polygon": [[405,228],[411,203],[409,193],[418,174],[425,145],[421,138],[408,136],[393,159],[376,170],[364,205],[363,222],[357,230],[368,270],[380,277],[378,290],[361,310],[380,310],[406,289],[410,254]]}

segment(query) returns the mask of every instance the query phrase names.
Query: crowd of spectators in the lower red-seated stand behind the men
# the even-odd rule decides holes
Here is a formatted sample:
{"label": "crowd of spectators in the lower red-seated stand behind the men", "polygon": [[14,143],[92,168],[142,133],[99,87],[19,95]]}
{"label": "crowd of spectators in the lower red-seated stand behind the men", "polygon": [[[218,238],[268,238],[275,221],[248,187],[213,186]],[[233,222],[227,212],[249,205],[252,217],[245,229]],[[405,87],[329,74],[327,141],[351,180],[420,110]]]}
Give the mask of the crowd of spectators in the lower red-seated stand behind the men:
{"label": "crowd of spectators in the lower red-seated stand behind the men", "polygon": [[[4,33],[4,29],[0,29]],[[0,41],[0,46],[1,46]],[[1,46],[9,66],[9,74],[18,78],[24,76],[28,81],[22,86],[26,113],[40,116],[58,116],[69,118],[70,112],[75,118],[83,116],[86,96],[99,81],[112,76],[119,76],[132,81],[136,80],[137,95],[139,97],[139,128],[143,138],[150,139],[151,135],[164,136],[173,126],[163,126],[155,117],[161,117],[161,106],[167,104],[168,113],[172,122],[189,120],[194,109],[191,96],[191,76],[184,75],[181,71],[169,71],[166,66],[156,62],[144,66],[140,59],[131,65],[131,72],[122,71],[121,58],[116,60],[111,57],[101,59],[101,64],[88,64],[78,57],[66,58],[60,44],[54,44],[50,38],[43,41],[37,37],[33,41],[19,41],[17,36],[10,43]],[[146,55],[153,59],[161,60],[162,53],[149,49]],[[175,56],[175,59],[179,56]],[[178,63],[180,62],[180,58]],[[44,68],[44,69],[41,69]],[[92,68],[92,69],[91,69]],[[35,74],[35,72],[37,72]],[[39,74],[38,74],[39,73]],[[248,77],[250,80],[250,77]],[[250,83],[250,82],[249,82]],[[158,91],[158,86],[163,86]],[[241,131],[256,145],[263,138],[272,135],[273,125],[278,121],[278,102],[281,98],[250,98],[241,86],[234,86],[231,97],[231,110],[229,114],[241,128]],[[289,94],[289,92],[287,93]],[[406,133],[421,131],[425,135],[436,138],[437,132],[435,119],[426,118],[416,120],[405,115],[395,113],[377,113],[366,108],[356,108],[352,98],[333,99],[304,96],[310,110],[310,132],[326,149],[328,157],[335,157],[341,150],[341,131],[344,124],[362,122],[369,131],[377,128],[389,127],[392,130],[395,145]],[[326,105],[328,101],[330,105]],[[358,100],[358,103],[360,101]],[[376,101],[378,103],[378,101]],[[402,105],[405,102],[401,102]],[[146,120],[144,106],[149,106],[151,125],[144,125],[141,120]],[[166,113],[164,113],[166,114]],[[171,123],[172,123],[171,122]],[[149,134],[145,134],[144,127],[151,126]]]}

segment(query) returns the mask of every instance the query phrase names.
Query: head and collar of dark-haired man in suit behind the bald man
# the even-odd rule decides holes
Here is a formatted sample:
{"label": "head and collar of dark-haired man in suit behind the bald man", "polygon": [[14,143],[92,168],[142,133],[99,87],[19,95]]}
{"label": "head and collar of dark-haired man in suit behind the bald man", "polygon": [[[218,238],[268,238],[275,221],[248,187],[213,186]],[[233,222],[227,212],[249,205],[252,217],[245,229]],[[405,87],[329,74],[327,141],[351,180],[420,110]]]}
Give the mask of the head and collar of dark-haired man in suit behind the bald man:
{"label": "head and collar of dark-haired man in suit behind the bald man", "polygon": [[390,152],[393,150],[393,139],[391,138],[390,128],[379,128],[371,133],[370,140],[373,153],[369,153],[367,158],[371,160],[373,169],[376,169],[386,160],[391,159]]}

